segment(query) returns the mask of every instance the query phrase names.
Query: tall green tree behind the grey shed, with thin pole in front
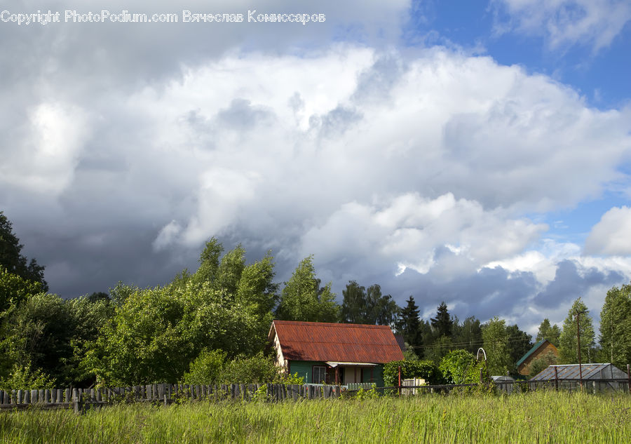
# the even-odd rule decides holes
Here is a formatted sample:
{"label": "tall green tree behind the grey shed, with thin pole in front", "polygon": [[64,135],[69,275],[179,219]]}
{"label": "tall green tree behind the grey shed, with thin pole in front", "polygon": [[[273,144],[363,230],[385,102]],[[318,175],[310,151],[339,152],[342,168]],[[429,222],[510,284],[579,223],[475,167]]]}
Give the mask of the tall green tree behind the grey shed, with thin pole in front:
{"label": "tall green tree behind the grey shed, with thin pole in front", "polygon": [[578,322],[581,325],[581,361],[584,363],[592,362],[594,357],[593,347],[595,345],[595,333],[592,325],[592,318],[588,314],[587,306],[579,297],[574,301],[572,307],[567,313],[567,317],[563,323],[561,337],[559,337],[559,363],[576,364],[578,363],[578,347],[576,346],[576,314]]}

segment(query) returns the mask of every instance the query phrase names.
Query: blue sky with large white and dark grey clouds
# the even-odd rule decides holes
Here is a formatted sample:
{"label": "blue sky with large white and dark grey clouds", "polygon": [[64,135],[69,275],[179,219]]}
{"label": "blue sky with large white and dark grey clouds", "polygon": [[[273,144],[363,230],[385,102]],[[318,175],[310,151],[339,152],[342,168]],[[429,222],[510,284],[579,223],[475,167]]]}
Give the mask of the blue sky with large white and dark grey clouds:
{"label": "blue sky with large white and dark grey clouds", "polygon": [[0,9],[0,209],[62,297],[168,283],[211,236],[534,334],[631,280],[627,0]]}

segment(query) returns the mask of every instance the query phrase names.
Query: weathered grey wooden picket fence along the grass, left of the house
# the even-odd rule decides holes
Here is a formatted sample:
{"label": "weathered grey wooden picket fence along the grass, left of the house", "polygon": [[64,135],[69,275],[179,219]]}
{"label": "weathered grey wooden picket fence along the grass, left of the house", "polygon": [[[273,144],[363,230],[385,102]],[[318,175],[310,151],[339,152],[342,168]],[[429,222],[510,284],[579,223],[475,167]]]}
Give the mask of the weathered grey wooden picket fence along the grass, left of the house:
{"label": "weathered grey wooden picket fence along the grass, left of the house", "polygon": [[[264,387],[264,389],[262,389]],[[149,384],[95,389],[39,389],[0,391],[0,410],[74,408],[76,412],[111,403],[153,402],[165,405],[181,400],[339,398],[341,386],[315,384]]]}

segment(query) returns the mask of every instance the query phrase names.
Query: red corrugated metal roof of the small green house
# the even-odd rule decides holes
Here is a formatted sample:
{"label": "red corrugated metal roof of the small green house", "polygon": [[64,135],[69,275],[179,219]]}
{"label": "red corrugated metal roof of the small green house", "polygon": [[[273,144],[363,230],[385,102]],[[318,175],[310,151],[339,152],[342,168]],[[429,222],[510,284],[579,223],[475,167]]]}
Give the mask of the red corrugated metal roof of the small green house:
{"label": "red corrugated metal roof of the small green house", "polygon": [[285,359],[388,363],[403,354],[388,325],[273,321]]}

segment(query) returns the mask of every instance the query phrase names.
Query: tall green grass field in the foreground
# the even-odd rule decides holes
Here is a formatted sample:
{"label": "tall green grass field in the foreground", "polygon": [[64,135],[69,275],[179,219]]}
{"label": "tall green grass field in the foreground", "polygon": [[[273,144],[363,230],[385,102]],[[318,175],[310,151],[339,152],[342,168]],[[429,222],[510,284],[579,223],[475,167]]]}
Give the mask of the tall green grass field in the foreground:
{"label": "tall green grass field in the foreground", "polygon": [[0,443],[631,443],[631,396],[540,391],[0,412]]}

